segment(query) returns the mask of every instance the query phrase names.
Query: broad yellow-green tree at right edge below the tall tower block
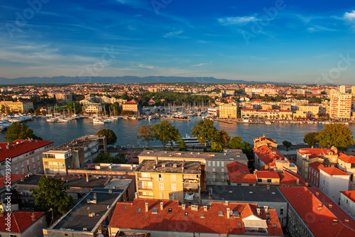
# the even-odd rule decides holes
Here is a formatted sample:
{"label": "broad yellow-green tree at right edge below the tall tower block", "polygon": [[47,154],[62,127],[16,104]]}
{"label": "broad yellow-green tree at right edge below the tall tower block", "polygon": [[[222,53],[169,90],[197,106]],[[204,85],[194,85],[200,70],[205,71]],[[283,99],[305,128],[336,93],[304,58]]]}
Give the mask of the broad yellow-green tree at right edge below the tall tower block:
{"label": "broad yellow-green tree at right edge below the tall tower block", "polygon": [[317,138],[320,141],[320,146],[332,147],[334,145],[339,150],[346,150],[350,145],[354,144],[351,130],[342,123],[326,124],[318,132]]}

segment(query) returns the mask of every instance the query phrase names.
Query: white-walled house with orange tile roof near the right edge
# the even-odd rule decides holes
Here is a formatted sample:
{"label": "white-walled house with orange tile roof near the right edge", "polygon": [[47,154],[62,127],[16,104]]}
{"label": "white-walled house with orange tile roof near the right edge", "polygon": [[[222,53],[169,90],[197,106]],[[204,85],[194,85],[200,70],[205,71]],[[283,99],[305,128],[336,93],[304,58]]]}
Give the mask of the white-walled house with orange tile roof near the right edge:
{"label": "white-walled house with orange tile roof near the right edge", "polygon": [[336,167],[320,167],[320,189],[339,204],[340,191],[348,191],[350,175]]}

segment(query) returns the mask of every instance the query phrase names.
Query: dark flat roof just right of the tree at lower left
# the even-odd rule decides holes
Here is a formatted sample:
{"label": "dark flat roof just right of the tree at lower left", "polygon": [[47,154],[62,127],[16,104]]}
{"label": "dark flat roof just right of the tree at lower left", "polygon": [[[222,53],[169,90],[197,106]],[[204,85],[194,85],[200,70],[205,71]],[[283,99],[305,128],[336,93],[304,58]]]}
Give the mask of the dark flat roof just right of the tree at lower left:
{"label": "dark flat roof just right of the tree at lower left", "polygon": [[[87,199],[94,199],[94,194],[97,196],[97,204],[87,203]],[[120,194],[121,192],[116,191],[109,194],[108,189],[93,189],[50,229],[65,228],[71,231],[82,231],[83,228],[87,228],[87,231],[92,231],[107,212],[107,206],[114,204]],[[93,212],[95,216],[89,216],[89,212]]]}

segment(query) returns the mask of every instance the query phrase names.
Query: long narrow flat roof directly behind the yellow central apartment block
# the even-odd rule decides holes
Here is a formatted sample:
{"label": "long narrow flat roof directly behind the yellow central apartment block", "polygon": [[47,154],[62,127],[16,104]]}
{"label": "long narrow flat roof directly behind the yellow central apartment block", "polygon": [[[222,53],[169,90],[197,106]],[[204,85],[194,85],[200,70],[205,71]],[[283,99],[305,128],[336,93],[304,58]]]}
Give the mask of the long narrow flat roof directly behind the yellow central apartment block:
{"label": "long narrow flat roof directly behind the yellow central apartment block", "polygon": [[185,159],[203,159],[203,160],[248,160],[241,149],[226,149],[224,153],[204,153],[194,151],[165,151],[165,150],[143,150],[139,157],[151,158],[185,158]]}

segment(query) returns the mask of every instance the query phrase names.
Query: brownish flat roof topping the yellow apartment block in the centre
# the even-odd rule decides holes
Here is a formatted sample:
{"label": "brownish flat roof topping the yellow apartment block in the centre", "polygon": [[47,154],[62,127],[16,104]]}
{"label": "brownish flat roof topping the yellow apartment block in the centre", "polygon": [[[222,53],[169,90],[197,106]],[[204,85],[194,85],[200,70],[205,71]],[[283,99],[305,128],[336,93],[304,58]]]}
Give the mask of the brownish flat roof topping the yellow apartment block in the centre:
{"label": "brownish flat roof topping the yellow apartment block in the centre", "polygon": [[136,172],[200,174],[200,162],[182,160],[143,160]]}

